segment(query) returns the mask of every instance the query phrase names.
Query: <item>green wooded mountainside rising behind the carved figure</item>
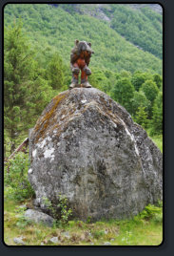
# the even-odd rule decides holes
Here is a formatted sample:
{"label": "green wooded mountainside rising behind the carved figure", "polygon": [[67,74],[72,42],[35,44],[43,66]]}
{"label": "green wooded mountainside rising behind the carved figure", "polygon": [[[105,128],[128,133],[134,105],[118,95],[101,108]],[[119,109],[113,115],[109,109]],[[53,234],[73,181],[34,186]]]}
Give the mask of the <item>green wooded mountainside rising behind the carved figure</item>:
{"label": "green wooded mountainside rising behind the carved figure", "polygon": [[162,15],[147,8],[103,7],[103,13],[112,17],[110,22],[101,18],[96,5],[7,5],[5,26],[21,17],[23,29],[37,51],[59,52],[66,63],[77,38],[91,42],[95,50],[93,67],[162,74],[162,61],[156,57],[162,57]]}

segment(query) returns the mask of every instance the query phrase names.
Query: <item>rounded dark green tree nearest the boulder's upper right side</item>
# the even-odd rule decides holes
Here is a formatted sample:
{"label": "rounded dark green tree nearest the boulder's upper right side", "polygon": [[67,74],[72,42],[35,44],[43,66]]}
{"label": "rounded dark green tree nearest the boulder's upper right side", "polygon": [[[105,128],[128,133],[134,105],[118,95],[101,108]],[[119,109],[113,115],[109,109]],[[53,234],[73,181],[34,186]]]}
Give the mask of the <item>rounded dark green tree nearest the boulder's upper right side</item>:
{"label": "rounded dark green tree nearest the boulder's upper right side", "polygon": [[111,96],[114,100],[123,105],[128,112],[131,111],[131,99],[133,97],[134,87],[128,78],[119,79],[114,85]]}

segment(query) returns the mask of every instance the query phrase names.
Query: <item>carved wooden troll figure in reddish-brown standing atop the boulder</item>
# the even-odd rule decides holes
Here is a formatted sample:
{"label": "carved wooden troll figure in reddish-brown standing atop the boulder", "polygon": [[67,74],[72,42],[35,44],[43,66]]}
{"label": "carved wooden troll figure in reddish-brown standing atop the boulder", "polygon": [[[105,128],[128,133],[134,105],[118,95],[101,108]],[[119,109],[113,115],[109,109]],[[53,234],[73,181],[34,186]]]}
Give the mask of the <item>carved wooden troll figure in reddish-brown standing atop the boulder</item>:
{"label": "carved wooden troll figure in reddish-brown standing atop the boulder", "polygon": [[69,88],[79,87],[78,76],[81,71],[81,86],[90,88],[91,85],[87,81],[87,76],[91,75],[88,68],[91,54],[94,53],[91,49],[91,43],[86,41],[75,40],[75,46],[70,54],[70,69],[72,72],[72,81]]}

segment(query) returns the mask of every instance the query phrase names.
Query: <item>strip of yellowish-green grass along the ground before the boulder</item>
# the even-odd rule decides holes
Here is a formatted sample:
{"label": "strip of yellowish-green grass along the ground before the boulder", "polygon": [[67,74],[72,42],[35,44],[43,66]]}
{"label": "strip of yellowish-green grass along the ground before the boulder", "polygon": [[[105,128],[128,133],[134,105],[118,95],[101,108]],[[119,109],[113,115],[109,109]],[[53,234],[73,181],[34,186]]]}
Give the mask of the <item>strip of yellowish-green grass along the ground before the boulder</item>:
{"label": "strip of yellowish-green grass along the ground before the boulder", "polygon": [[[25,202],[29,203],[29,202]],[[24,204],[24,203],[23,203]],[[23,212],[16,212],[20,203],[6,199],[4,242],[15,245],[13,238],[23,237],[25,245],[160,245],[163,241],[162,219],[142,219],[140,216],[126,221],[104,221],[84,223],[69,221],[66,226],[48,227],[33,224],[23,218]],[[68,232],[68,237],[65,236]],[[58,243],[49,240],[58,238]]]}

